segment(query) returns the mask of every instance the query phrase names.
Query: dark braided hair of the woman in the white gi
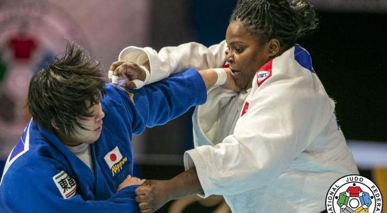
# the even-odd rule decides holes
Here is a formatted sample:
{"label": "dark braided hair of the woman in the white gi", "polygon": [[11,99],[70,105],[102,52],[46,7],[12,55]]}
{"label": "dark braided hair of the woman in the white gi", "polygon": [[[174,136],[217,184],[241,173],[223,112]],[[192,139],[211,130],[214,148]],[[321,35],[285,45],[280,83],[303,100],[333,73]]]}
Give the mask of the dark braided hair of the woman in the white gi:
{"label": "dark braided hair of the woman in the white gi", "polygon": [[276,38],[286,48],[318,25],[317,12],[305,0],[291,4],[285,0],[241,0],[230,22],[235,20],[241,21],[253,35],[259,34],[261,44]]}

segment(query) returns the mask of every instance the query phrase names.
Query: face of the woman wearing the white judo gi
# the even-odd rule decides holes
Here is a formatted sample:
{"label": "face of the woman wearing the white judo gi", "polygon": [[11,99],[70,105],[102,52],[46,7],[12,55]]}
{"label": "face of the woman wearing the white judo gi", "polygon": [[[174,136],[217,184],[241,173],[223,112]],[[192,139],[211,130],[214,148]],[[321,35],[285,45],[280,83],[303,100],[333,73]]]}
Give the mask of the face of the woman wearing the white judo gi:
{"label": "face of the woman wearing the white judo gi", "polygon": [[230,22],[226,42],[231,76],[238,87],[247,90],[252,87],[257,70],[270,60],[268,43],[260,45],[259,37],[247,32],[240,21]]}

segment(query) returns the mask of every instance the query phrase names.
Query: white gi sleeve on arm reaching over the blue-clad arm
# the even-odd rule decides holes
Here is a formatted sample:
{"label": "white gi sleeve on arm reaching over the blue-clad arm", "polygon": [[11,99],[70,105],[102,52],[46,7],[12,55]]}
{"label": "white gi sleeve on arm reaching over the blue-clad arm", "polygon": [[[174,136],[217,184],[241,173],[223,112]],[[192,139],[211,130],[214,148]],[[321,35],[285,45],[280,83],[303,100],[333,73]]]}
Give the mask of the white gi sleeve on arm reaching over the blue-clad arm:
{"label": "white gi sleeve on arm reaching over the blue-clad arm", "polygon": [[189,67],[195,67],[198,70],[222,67],[226,60],[226,51],[225,40],[209,48],[196,42],[189,42],[177,47],[165,47],[159,52],[150,47],[130,46],[121,51],[118,60],[139,65],[149,60],[150,83],[152,83]]}

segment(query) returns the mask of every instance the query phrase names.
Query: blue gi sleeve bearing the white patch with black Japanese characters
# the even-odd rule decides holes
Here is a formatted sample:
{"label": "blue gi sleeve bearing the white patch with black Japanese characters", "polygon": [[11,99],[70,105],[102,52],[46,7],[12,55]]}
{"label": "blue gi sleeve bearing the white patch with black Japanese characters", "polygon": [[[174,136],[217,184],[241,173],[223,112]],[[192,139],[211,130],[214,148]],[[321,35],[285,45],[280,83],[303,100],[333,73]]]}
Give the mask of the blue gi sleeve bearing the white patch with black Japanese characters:
{"label": "blue gi sleeve bearing the white patch with black Japanese characters", "polygon": [[106,200],[84,200],[74,179],[50,158],[8,172],[0,191],[2,212],[139,212],[134,193],[138,185]]}

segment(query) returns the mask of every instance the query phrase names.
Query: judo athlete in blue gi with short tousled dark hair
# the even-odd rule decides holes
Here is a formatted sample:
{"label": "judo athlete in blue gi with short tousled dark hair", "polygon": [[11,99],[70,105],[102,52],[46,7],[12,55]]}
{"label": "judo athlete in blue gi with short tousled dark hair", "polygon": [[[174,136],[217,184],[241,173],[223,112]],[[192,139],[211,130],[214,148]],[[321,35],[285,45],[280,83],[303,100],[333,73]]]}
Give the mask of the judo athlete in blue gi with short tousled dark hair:
{"label": "judo athlete in blue gi with short tousled dark hair", "polygon": [[33,118],[7,159],[0,212],[139,212],[134,190],[144,180],[128,176],[132,134],[203,104],[214,73],[206,81],[188,69],[138,90],[114,87],[69,44],[31,79]]}

